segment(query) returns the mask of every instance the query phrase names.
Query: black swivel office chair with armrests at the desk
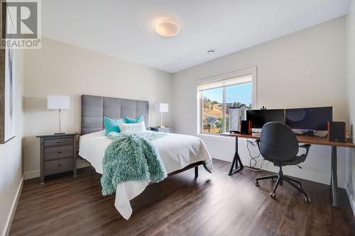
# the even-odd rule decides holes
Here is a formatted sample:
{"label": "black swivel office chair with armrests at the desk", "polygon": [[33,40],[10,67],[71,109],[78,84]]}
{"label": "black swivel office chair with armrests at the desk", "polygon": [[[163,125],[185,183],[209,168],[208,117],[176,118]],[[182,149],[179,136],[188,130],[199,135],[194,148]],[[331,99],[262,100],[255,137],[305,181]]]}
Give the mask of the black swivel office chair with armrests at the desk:
{"label": "black swivel office chair with armrests at the desk", "polygon": [[[297,165],[301,162],[305,162],[310,150],[310,145],[299,145],[293,130],[291,130],[288,125],[279,122],[266,123],[261,130],[260,139],[256,140],[256,142],[258,143],[258,147],[263,158],[269,162],[273,162],[274,166],[280,167],[280,171],[278,172],[278,175],[257,178],[255,185],[259,186],[258,181],[262,179],[271,179],[271,181],[273,181],[273,179],[277,179],[276,184],[273,187],[273,192],[270,193],[271,198],[275,198],[276,189],[278,189],[279,185],[283,185],[283,181],[286,181],[295,189],[303,193],[304,200],[307,203],[310,203],[310,198],[303,190],[300,181],[283,175],[284,166]],[[299,147],[305,148],[305,154],[297,156]]]}

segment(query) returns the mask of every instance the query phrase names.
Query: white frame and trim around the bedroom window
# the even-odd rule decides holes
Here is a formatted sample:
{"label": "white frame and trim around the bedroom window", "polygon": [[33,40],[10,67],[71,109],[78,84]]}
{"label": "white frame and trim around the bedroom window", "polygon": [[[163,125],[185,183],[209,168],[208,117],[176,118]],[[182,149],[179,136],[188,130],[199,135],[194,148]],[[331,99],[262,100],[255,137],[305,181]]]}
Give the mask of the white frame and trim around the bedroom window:
{"label": "white frame and trim around the bedroom window", "polygon": [[[225,74],[219,74],[213,77],[207,77],[204,79],[197,80],[197,135],[219,135],[218,133],[204,133],[203,132],[203,121],[202,121],[202,112],[203,112],[203,97],[202,91],[200,91],[199,86],[202,84],[209,84],[213,82],[219,82],[227,79],[240,78],[243,79],[246,76],[251,76],[251,108],[256,108],[257,106],[257,67],[251,67],[247,69],[241,69],[234,72],[228,72]],[[247,83],[247,82],[246,82]],[[244,83],[241,83],[244,84]],[[228,85],[232,86],[232,85]],[[226,130],[226,87],[222,86],[222,130]]]}

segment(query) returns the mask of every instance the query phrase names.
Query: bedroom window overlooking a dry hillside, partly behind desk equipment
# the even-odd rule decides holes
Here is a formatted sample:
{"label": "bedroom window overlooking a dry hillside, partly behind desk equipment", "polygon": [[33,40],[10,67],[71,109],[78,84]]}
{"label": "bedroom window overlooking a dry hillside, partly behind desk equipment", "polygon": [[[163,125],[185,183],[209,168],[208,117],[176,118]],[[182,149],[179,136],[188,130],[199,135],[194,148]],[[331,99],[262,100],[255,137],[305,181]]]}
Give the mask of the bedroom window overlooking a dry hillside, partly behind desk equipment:
{"label": "bedroom window overlooking a dry hillside, partly behind desk equipment", "polygon": [[229,132],[229,108],[251,108],[253,75],[222,79],[198,85],[200,133]]}

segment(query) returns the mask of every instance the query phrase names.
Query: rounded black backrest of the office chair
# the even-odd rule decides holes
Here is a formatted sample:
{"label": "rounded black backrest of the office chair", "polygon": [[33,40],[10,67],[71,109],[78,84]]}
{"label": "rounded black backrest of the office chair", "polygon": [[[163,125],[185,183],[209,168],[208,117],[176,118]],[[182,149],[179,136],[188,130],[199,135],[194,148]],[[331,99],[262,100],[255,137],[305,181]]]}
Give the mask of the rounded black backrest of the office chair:
{"label": "rounded black backrest of the office chair", "polygon": [[271,162],[296,159],[298,141],[295,133],[283,123],[266,123],[261,130],[260,152],[265,159]]}

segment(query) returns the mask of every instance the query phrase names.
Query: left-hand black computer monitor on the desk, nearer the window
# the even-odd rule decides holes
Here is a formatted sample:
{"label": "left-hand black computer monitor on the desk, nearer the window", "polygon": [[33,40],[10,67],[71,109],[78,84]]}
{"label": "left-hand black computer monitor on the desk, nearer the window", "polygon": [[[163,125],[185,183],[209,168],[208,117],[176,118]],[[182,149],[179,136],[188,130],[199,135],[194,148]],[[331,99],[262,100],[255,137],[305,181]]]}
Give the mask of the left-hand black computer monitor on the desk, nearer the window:
{"label": "left-hand black computer monitor on the desk, nearer the window", "polygon": [[254,129],[261,129],[263,125],[271,121],[285,123],[285,110],[248,110],[246,111],[246,120],[251,120]]}

